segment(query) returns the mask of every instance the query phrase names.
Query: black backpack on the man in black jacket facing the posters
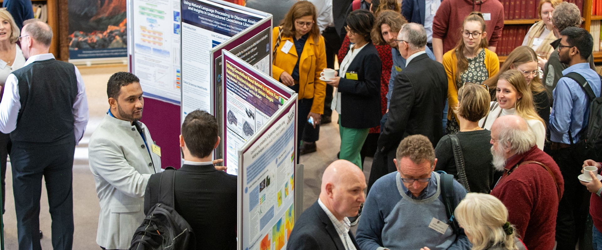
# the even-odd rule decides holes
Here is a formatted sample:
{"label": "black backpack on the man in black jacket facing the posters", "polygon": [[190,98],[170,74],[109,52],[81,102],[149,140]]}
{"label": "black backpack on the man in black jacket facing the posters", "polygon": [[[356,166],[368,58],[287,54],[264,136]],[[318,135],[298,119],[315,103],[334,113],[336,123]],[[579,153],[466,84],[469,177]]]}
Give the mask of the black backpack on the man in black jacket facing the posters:
{"label": "black backpack on the man in black jacket facing the posters", "polygon": [[160,185],[149,186],[147,198],[155,204],[147,212],[142,225],[134,233],[129,250],[195,249],[196,241],[192,228],[176,212],[173,195],[175,171],[161,173]]}

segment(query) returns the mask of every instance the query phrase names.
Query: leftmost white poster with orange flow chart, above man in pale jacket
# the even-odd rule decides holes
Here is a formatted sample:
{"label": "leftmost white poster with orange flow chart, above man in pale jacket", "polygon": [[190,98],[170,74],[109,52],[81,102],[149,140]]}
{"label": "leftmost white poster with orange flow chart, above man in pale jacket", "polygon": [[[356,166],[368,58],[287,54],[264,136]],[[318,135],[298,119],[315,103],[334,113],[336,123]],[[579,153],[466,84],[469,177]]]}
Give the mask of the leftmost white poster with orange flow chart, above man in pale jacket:
{"label": "leftmost white poster with orange flow chart, above man in pale jacket", "polygon": [[144,97],[180,105],[181,0],[132,0],[128,5],[130,71]]}

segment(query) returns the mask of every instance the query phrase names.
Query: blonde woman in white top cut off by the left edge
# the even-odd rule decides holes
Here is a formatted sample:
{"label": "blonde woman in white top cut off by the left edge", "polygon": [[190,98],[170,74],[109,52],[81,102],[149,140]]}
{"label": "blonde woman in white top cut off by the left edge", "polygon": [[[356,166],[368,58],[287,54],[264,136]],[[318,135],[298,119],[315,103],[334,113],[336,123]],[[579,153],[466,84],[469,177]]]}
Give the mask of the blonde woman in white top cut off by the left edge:
{"label": "blonde woman in white top cut off by the left edge", "polygon": [[[0,100],[4,94],[4,83],[8,75],[13,71],[22,68],[25,64],[25,57],[23,52],[17,45],[19,40],[20,30],[17,24],[14,22],[13,16],[6,10],[6,8],[0,8]],[[4,178],[6,174],[6,162],[8,152],[10,150],[10,135],[3,134],[0,132],[0,168],[2,174],[2,213],[4,213]]]}

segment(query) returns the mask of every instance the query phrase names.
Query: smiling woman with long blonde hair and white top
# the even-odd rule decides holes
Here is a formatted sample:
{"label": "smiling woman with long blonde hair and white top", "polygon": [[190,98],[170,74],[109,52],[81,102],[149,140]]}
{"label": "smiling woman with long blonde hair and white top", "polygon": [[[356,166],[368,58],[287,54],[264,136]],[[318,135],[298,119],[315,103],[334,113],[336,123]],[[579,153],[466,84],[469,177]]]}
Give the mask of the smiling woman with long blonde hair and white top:
{"label": "smiling woman with long blonde hair and white top", "polygon": [[479,121],[479,126],[491,130],[491,125],[500,116],[520,116],[533,129],[537,147],[544,150],[545,122],[535,112],[533,95],[523,72],[506,70],[498,74],[495,100],[489,106],[489,115]]}

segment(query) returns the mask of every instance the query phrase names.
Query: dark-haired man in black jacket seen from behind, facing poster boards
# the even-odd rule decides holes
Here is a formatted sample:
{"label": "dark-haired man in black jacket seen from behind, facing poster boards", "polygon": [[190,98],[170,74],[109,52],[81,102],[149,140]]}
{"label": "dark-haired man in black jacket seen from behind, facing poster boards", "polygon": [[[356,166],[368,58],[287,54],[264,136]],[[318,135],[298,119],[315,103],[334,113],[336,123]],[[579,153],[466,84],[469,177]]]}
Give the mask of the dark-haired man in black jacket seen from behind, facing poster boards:
{"label": "dark-haired man in black jacket seen from behind, facing poster boards", "polygon": [[[236,249],[237,177],[218,171],[211,162],[220,137],[216,118],[204,111],[189,113],[182,123],[180,147],[184,165],[175,172],[175,207],[193,229],[196,249]],[[146,186],[144,213],[154,204],[161,173]]]}

